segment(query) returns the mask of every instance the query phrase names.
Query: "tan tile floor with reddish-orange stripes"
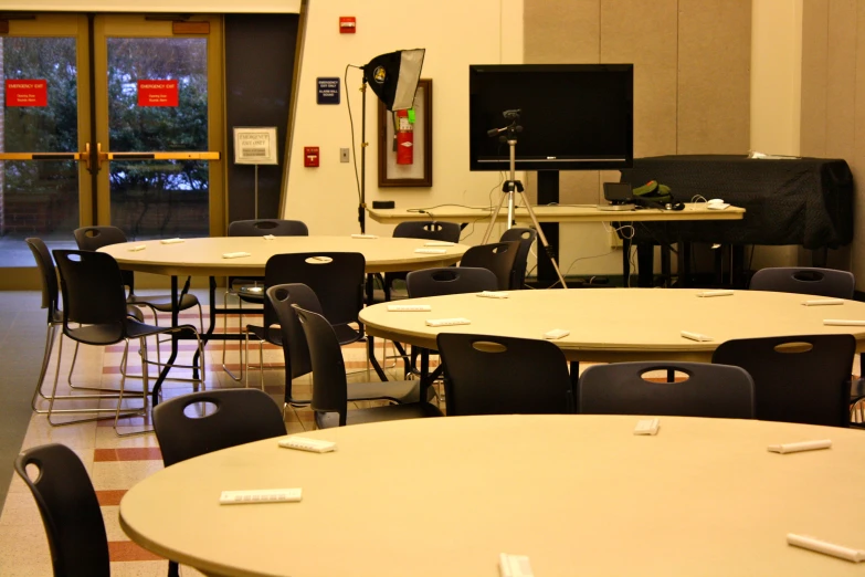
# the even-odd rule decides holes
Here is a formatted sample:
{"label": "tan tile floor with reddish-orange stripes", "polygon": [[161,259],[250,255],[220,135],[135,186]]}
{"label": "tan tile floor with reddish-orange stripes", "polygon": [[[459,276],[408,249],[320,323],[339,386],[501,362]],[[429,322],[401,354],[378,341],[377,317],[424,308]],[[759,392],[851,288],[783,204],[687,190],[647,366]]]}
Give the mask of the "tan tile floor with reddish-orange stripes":
{"label": "tan tile floor with reddish-orange stripes", "polygon": [[[32,310],[39,310],[39,295],[28,295],[17,293],[27,306]],[[9,306],[9,293],[3,293],[3,298]],[[24,305],[22,305],[24,306]],[[197,314],[181,315],[181,322],[198,324]],[[33,321],[32,318],[30,319]],[[2,328],[3,317],[0,315],[0,328]],[[231,322],[231,319],[230,319]],[[36,361],[41,360],[42,346],[44,342],[44,316],[38,317],[38,327],[29,343],[30,348],[38,350]],[[236,318],[234,318],[236,325]],[[38,338],[36,338],[38,337]],[[11,338],[11,337],[9,337]],[[7,343],[4,343],[7,344]],[[165,352],[167,344],[162,345]],[[366,344],[359,343],[346,347],[346,364],[349,368],[361,369],[366,367],[365,352]],[[137,347],[134,347],[137,350]],[[240,368],[238,344],[229,344],[229,365],[235,371]],[[150,345],[152,352],[152,345]],[[189,360],[194,350],[191,344],[181,345],[181,359]],[[163,353],[165,354],[165,353]],[[13,360],[13,356],[3,356],[6,360]],[[119,384],[119,365],[123,356],[123,346],[112,346],[107,348],[82,347],[75,366],[72,382],[75,386],[102,386],[112,387]],[[56,358],[56,345],[53,355]],[[241,384],[233,381],[222,370],[222,346],[221,343],[212,343],[208,347],[207,366],[207,387],[240,387]],[[68,392],[68,385],[65,382],[65,375],[68,373],[68,366],[72,359],[72,347],[68,340],[64,343],[63,360],[61,365],[61,390],[60,394]],[[253,355],[257,359],[257,355]],[[33,359],[30,359],[33,363]],[[265,350],[265,365],[278,367],[282,363],[282,352],[276,347],[267,347]],[[32,394],[32,386],[38,376],[38,365],[32,371],[32,377],[21,382],[21,394],[25,394],[29,402],[29,395]],[[43,389],[50,392],[53,384],[55,365],[49,368]],[[140,373],[140,363],[137,354],[130,355],[129,373]],[[151,371],[152,374],[154,371]],[[182,370],[175,370],[172,375],[182,375]],[[250,385],[257,386],[257,371],[250,375]],[[283,370],[282,368],[272,368],[264,373],[264,389],[271,394],[282,407],[283,405]],[[366,371],[361,371],[351,378],[365,380]],[[139,379],[129,379],[127,387],[138,388]],[[3,384],[6,386],[6,384]],[[189,382],[170,381],[163,387],[163,399],[178,395],[190,392],[192,385]],[[307,395],[309,391],[308,379],[296,379],[294,390],[298,396]],[[60,401],[57,401],[60,402]],[[67,401],[64,407],[85,406],[92,401]],[[104,406],[114,407],[114,401],[97,401]],[[140,397],[137,399],[125,400],[130,406],[140,406]],[[46,401],[40,402],[41,407],[46,406]],[[57,405],[59,406],[59,405]],[[19,407],[18,411],[27,410],[30,407]],[[0,416],[1,417],[1,416]],[[71,418],[71,417],[70,417]],[[62,419],[61,419],[62,420]],[[108,421],[86,422],[71,424],[67,427],[51,427],[43,415],[32,415],[27,432],[23,437],[23,443],[14,449],[20,449],[49,443],[60,442],[71,447],[81,457],[87,471],[91,474],[93,485],[96,490],[99,504],[102,505],[103,516],[105,518],[106,531],[109,541],[109,552],[112,559],[112,575],[115,577],[136,576],[150,577],[163,576],[167,574],[167,562],[131,543],[119,527],[118,508],[124,493],[135,483],[162,469],[161,454],[156,441],[156,437],[150,434],[118,438],[113,430],[113,419]],[[141,430],[149,424],[145,418],[129,418],[122,420],[120,430],[130,432]],[[308,409],[288,409],[286,411],[287,432],[298,432],[314,428],[313,413]],[[4,438],[4,444],[11,444],[15,441],[14,436],[9,434]],[[2,463],[0,471],[11,471],[9,465]],[[0,495],[1,496],[1,495]],[[182,575],[200,575],[194,569],[182,567]],[[51,575],[51,558],[45,539],[42,521],[36,510],[33,497],[27,485],[18,478],[12,475],[9,485],[9,492],[6,503],[0,514],[0,575],[4,577],[35,577]]]}

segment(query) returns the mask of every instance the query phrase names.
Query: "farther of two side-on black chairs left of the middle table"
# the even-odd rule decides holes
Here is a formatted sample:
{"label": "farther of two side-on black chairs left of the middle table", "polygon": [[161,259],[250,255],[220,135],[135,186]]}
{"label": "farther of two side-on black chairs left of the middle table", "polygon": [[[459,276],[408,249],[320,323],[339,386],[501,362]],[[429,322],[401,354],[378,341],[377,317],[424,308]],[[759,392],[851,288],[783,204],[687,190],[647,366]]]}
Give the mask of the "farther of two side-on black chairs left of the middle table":
{"label": "farther of two side-on black chairs left of the middle table", "polygon": [[[313,371],[306,335],[292,305],[321,314],[321,305],[312,288],[305,284],[277,284],[267,288],[266,298],[276,315],[285,358],[285,403],[308,405],[310,399],[297,399],[292,392],[292,380]],[[420,382],[416,380],[349,382],[348,400],[391,400],[393,402],[418,402]]]}

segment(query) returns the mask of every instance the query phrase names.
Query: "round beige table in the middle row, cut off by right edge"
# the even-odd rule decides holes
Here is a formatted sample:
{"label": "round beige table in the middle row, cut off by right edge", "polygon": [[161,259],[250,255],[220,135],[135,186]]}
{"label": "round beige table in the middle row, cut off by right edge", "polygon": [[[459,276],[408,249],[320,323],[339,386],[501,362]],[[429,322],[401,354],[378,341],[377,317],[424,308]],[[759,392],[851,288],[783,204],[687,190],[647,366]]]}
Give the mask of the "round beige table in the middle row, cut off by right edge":
{"label": "round beige table in the middle row, cut off by right edge", "polygon": [[[731,338],[850,333],[865,349],[865,326],[824,326],[825,318],[865,321],[865,303],[803,306],[819,296],[735,291],[731,296],[697,296],[702,290],[576,288],[511,291],[507,298],[476,294],[414,298],[431,312],[389,312],[373,305],[360,321],[373,336],[436,348],[441,332],[544,338],[553,328],[570,331],[553,340],[569,360],[692,360],[708,363],[715,348]],[[401,303],[409,303],[403,301]],[[464,317],[468,325],[430,327],[428,318]],[[684,338],[699,333],[713,340]]]}

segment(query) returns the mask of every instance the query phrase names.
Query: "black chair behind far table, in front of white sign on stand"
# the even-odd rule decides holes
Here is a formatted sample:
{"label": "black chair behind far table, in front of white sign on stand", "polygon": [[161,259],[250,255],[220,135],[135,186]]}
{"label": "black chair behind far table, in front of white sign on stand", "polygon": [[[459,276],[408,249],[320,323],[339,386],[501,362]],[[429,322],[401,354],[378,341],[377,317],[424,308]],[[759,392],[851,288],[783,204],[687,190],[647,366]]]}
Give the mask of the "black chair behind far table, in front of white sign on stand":
{"label": "black chair behind far table, in front of white sign on stand", "polygon": [[[284,219],[255,219],[255,220],[235,220],[229,224],[229,237],[265,237],[272,234],[274,237],[308,237],[309,229],[306,223],[299,220],[284,220]],[[243,327],[243,303],[250,303],[255,305],[262,305],[264,303],[264,287],[262,284],[264,279],[262,277],[235,277],[230,276],[226,283],[225,293],[222,298],[222,305],[228,307],[229,296],[238,297],[238,308],[240,311],[240,318],[238,322],[239,327]],[[222,317],[222,331],[225,333],[228,329],[228,315]],[[240,375],[229,369],[225,364],[225,349],[226,340],[222,342],[222,370],[224,370],[232,379],[240,381],[243,379],[243,355],[242,348],[238,347],[238,356],[240,358]]]}

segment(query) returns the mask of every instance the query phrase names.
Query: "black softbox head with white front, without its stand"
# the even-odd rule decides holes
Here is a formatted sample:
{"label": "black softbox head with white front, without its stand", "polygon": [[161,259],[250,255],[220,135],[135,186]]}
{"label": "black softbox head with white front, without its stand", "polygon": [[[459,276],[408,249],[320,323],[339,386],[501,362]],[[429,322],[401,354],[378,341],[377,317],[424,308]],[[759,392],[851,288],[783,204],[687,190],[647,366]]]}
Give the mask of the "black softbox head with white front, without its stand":
{"label": "black softbox head with white front, without its stand", "polygon": [[425,52],[398,50],[376,56],[363,66],[363,78],[388,111],[407,111],[414,105]]}

